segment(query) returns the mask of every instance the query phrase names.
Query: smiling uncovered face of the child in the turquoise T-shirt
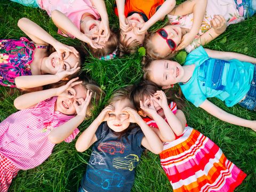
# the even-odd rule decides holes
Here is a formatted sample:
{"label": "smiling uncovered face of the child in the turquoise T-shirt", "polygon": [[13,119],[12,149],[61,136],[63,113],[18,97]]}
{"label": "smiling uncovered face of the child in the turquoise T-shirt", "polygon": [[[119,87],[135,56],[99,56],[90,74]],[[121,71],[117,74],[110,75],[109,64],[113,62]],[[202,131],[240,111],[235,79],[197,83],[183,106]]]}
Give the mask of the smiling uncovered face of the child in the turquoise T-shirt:
{"label": "smiling uncovered face of the child in the turquoise T-shirt", "polygon": [[181,82],[184,75],[183,67],[178,62],[170,60],[152,61],[149,70],[150,80],[162,86],[162,89],[168,89],[172,84]]}

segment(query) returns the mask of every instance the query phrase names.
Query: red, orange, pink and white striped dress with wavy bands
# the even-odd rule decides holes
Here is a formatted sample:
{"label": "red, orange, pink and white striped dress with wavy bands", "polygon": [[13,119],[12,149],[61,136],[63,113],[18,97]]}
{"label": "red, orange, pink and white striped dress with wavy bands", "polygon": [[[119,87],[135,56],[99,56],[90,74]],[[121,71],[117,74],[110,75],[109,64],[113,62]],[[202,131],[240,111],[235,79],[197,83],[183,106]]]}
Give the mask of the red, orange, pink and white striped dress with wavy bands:
{"label": "red, orange, pink and white striped dress with wavy bands", "polygon": [[[173,102],[170,108],[177,110]],[[157,127],[152,119],[145,122]],[[165,142],[159,155],[174,192],[234,191],[246,177],[213,141],[189,126],[174,141]]]}

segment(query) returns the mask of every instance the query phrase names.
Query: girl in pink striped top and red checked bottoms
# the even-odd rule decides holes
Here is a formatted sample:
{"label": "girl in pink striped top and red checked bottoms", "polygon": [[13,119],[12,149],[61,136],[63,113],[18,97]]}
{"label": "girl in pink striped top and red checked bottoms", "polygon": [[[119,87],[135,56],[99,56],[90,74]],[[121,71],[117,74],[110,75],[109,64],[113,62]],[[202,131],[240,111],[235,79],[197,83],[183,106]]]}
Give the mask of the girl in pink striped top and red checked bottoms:
{"label": "girl in pink striped top and red checked bottoms", "polygon": [[93,83],[71,79],[58,88],[23,94],[14,100],[20,111],[0,123],[0,191],[7,191],[19,170],[42,164],[56,143],[72,141],[92,101],[102,93]]}

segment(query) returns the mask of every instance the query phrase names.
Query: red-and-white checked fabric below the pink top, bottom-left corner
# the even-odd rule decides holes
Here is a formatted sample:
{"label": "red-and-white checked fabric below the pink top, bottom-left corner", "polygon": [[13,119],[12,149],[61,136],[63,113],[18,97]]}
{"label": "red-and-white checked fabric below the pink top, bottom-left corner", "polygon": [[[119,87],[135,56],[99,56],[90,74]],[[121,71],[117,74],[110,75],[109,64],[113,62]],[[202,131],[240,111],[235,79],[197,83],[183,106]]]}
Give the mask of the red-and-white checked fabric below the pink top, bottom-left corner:
{"label": "red-and-white checked fabric below the pink top, bottom-left corner", "polygon": [[0,191],[6,192],[19,169],[0,153]]}

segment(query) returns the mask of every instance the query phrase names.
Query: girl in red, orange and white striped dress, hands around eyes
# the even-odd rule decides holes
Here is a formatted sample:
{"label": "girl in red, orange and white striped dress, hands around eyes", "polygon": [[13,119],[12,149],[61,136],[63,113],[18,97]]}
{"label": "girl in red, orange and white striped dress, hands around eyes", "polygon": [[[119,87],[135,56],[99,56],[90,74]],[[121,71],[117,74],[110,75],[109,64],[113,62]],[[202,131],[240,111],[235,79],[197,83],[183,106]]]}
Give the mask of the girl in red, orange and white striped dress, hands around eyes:
{"label": "girl in red, orange and white striped dress, hands around eyes", "polygon": [[186,124],[177,105],[156,84],[143,81],[131,93],[138,113],[164,142],[161,165],[174,192],[234,191],[246,174],[222,150]]}

